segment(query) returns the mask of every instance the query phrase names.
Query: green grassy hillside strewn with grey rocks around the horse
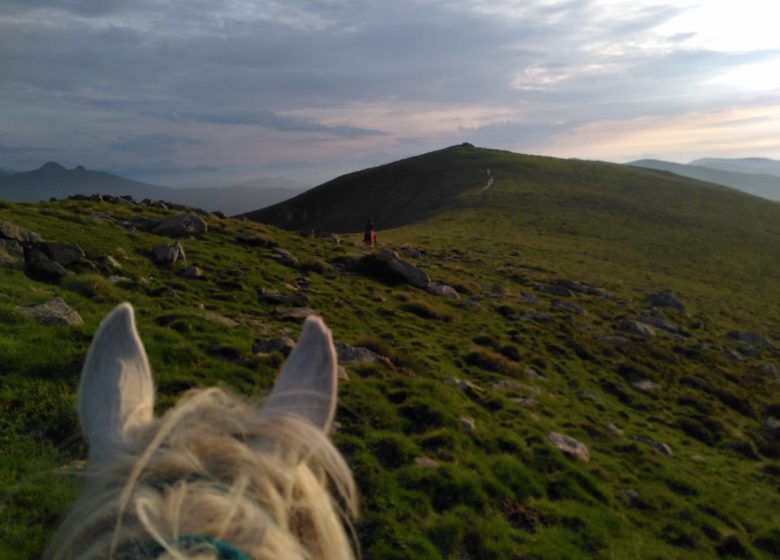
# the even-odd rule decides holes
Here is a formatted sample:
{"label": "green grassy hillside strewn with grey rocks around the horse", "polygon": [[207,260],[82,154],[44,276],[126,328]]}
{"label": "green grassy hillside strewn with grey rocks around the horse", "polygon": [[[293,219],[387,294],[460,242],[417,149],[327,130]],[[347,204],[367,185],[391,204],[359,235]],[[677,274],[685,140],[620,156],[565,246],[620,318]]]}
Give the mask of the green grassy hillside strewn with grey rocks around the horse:
{"label": "green grassy hillside strewn with grey rocks around the horse", "polygon": [[[389,358],[347,366],[334,435],[362,492],[364,558],[777,556],[780,206],[623,166],[453,150],[474,165],[446,211],[379,240],[457,298],[355,273],[359,234],[337,244],[208,217],[182,241],[188,262],[167,267],[149,258],[165,238],[122,227],[165,211],[0,206],[95,263],[58,283],[0,269],[0,557],[36,557],[77,492],[78,372],[125,300],[163,408],[193,386],[262,395],[283,357],[253,343],[297,336],[293,305]],[[202,278],[182,275],[191,264]],[[663,289],[685,309],[647,302]],[[18,309],[55,295],[83,326]],[[637,319],[664,326],[628,332]]]}

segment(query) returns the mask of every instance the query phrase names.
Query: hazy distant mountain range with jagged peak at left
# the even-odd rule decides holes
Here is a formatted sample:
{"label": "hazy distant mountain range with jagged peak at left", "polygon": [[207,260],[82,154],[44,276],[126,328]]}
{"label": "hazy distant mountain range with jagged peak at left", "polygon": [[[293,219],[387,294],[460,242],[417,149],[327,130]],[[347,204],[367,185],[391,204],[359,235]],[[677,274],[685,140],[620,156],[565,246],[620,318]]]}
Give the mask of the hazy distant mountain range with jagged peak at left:
{"label": "hazy distant mountain range with jagged peak at left", "polygon": [[0,176],[0,199],[35,202],[67,198],[75,194],[131,195],[136,200],[151,198],[184,204],[225,214],[238,214],[275,204],[305,187],[288,179],[258,179],[250,185],[172,189],[125,179],[82,166],[67,169],[49,162],[34,171]]}

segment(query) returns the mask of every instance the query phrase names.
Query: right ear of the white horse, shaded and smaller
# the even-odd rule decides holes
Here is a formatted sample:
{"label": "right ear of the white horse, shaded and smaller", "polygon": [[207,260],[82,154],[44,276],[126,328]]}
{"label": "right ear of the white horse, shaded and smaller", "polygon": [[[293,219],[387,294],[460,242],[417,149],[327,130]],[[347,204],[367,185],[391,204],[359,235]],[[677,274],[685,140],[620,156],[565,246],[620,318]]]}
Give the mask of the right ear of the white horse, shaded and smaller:
{"label": "right ear of the white horse, shaded and smaller", "polygon": [[336,412],[336,349],[330,330],[309,317],[260,414],[294,414],[327,432]]}

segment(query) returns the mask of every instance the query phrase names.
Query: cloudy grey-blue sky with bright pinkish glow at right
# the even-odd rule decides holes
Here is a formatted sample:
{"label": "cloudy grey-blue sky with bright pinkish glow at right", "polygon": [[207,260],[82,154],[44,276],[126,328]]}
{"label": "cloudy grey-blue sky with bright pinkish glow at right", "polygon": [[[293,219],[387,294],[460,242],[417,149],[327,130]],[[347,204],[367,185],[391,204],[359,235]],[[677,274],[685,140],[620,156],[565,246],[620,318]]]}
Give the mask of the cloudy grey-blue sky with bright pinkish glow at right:
{"label": "cloudy grey-blue sky with bright pinkish glow at right", "polygon": [[2,0],[0,167],[169,186],[458,144],[780,159],[778,0]]}

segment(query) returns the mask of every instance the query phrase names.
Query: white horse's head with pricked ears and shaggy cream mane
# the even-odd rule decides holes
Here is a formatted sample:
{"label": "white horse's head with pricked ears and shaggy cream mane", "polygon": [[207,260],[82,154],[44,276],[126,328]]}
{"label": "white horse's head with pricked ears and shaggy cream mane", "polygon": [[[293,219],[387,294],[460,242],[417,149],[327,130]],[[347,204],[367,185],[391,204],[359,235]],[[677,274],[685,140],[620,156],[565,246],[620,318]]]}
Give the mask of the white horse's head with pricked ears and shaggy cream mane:
{"label": "white horse's head with pricked ears and shaggy cream mane", "polygon": [[357,492],[328,440],[330,331],[309,317],[262,405],[194,389],[161,418],[128,303],[92,341],[78,390],[88,443],[80,497],[49,560],[354,560]]}

